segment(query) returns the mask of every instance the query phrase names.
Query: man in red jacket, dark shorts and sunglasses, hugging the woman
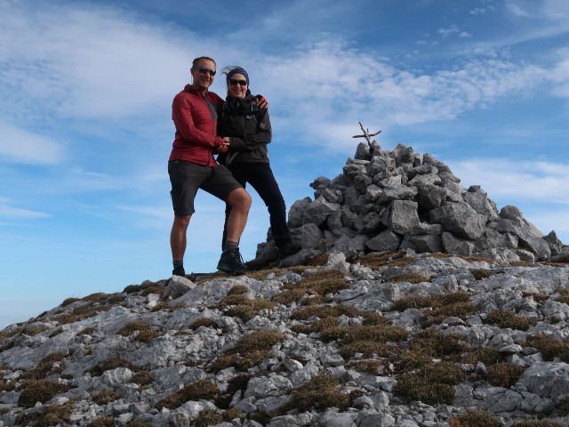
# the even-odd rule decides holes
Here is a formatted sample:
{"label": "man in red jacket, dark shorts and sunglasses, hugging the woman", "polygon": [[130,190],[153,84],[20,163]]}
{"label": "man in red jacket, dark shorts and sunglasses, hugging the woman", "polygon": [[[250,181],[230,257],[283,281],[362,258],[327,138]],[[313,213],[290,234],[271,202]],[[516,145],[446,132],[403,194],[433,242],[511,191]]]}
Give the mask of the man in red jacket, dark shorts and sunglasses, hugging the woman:
{"label": "man in red jacket, dark shorts and sunglasses, hugging the woman", "polygon": [[174,222],[170,234],[172,275],[184,276],[184,253],[189,219],[194,214],[197,189],[204,189],[231,205],[228,239],[218,263],[218,270],[243,274],[246,267],[238,242],[251,207],[251,196],[233,178],[228,168],[218,165],[214,154],[228,151],[229,139],[217,136],[217,106],[223,100],[208,89],[215,76],[215,61],[196,58],[190,73],[192,84],[186,85],[172,102],[172,120],[176,136],[168,160],[172,182]]}

